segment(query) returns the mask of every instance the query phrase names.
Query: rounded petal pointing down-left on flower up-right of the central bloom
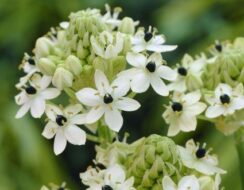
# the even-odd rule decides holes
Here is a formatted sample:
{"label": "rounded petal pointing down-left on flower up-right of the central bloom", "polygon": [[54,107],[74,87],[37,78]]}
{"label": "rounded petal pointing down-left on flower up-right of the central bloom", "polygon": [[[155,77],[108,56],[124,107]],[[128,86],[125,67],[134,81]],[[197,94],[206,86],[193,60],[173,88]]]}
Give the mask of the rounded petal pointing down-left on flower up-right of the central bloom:
{"label": "rounded petal pointing down-left on flower up-right of the central bloom", "polygon": [[145,73],[140,72],[132,78],[130,85],[133,92],[145,92],[150,85],[149,78]]}

